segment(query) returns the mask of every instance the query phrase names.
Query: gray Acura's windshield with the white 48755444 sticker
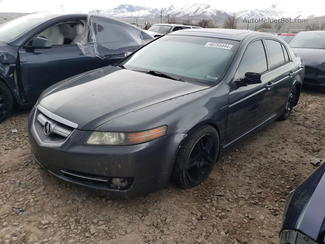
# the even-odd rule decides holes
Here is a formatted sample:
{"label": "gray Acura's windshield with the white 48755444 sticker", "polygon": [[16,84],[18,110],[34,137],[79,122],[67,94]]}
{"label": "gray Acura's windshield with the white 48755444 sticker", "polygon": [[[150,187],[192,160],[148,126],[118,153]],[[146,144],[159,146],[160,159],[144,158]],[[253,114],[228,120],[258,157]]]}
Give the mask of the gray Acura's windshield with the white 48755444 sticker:
{"label": "gray Acura's windshield with the white 48755444 sticker", "polygon": [[166,35],[121,64],[136,71],[158,71],[185,82],[212,86],[224,73],[238,41],[202,36]]}

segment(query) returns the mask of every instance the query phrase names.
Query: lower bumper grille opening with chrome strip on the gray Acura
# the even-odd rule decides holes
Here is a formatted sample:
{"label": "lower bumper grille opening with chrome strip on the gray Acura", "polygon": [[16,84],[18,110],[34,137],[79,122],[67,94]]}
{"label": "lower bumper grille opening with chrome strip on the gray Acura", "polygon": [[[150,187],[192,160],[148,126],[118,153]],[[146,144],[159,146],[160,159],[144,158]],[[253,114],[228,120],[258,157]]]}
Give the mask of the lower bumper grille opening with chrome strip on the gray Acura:
{"label": "lower bumper grille opening with chrome strip on the gray Acura", "polygon": [[[75,181],[100,185],[100,186],[106,186],[107,188],[116,189],[116,190],[127,190],[131,187],[131,184],[133,182],[133,177],[103,176],[103,175],[96,175],[96,174],[74,171],[70,169],[63,169],[61,170],[61,172],[64,173],[64,176],[71,178]],[[112,183],[113,178],[123,178],[128,182],[128,184],[125,187],[117,187]]]}

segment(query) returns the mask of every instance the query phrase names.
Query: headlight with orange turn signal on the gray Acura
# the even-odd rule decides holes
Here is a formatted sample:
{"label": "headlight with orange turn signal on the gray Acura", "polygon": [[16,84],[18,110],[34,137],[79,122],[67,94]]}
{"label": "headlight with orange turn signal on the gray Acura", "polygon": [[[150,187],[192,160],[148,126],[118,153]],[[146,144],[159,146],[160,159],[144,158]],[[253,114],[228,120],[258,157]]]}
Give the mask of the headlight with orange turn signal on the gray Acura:
{"label": "headlight with orange turn signal on the gray Acura", "polygon": [[138,132],[103,132],[93,131],[85,140],[85,145],[123,146],[149,142],[162,137],[167,132],[167,126]]}

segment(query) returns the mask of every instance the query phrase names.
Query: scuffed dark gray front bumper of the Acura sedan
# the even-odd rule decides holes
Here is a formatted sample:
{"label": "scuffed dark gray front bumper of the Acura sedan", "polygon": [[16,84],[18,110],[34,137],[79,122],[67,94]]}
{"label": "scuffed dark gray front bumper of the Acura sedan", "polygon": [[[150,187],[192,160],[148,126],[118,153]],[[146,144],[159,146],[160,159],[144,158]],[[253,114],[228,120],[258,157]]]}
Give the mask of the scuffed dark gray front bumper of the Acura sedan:
{"label": "scuffed dark gray front bumper of the Acura sedan", "polygon": [[[32,123],[30,119],[28,136],[34,159],[57,178],[106,197],[132,198],[166,189],[185,136],[172,133],[131,146],[89,146],[82,142],[91,131],[75,129],[63,144],[53,146],[39,140]],[[131,179],[132,183],[127,189],[112,188],[114,177]],[[107,183],[96,179],[106,179]]]}

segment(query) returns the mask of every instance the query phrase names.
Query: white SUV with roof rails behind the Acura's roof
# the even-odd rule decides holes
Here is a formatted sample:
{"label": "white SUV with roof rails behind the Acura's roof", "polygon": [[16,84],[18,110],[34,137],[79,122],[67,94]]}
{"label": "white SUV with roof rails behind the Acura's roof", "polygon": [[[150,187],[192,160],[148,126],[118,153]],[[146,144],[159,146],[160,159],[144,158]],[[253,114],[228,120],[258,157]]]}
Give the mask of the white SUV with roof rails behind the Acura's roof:
{"label": "white SUV with roof rails behind the Acura's roof", "polygon": [[152,35],[153,37],[158,37],[168,32],[199,28],[202,27],[185,23],[154,24],[146,31],[146,33]]}

